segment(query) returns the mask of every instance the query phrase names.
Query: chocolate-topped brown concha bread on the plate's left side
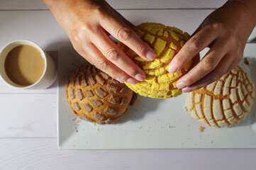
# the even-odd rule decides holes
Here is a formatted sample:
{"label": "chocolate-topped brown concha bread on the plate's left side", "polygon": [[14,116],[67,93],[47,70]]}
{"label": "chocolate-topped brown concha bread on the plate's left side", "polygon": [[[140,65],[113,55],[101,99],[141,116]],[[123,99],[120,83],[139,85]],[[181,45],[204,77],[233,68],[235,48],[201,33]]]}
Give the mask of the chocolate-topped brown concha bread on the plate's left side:
{"label": "chocolate-topped brown concha bread on the plate's left side", "polygon": [[67,103],[83,120],[113,123],[126,112],[133,91],[91,64],[79,67],[66,85]]}

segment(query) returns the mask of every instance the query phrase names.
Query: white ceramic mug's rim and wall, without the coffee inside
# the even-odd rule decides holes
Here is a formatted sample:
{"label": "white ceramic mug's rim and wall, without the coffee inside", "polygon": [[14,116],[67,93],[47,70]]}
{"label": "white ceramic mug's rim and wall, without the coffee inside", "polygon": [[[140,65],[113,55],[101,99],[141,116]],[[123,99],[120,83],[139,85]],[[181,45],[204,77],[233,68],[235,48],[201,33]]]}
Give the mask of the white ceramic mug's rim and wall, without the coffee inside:
{"label": "white ceramic mug's rim and wall, without the coffee inside", "polygon": [[[38,81],[36,81],[34,84],[31,84],[30,86],[21,86],[15,84],[6,75],[6,71],[4,68],[6,56],[11,50],[13,50],[14,47],[17,47],[18,45],[31,45],[35,47],[37,50],[40,51],[43,59],[45,60],[45,69],[42,76],[40,77],[40,79],[38,79]],[[14,40],[5,45],[0,51],[0,77],[5,84],[12,86],[16,89],[46,89],[55,81],[57,77],[57,69],[55,66],[55,62],[52,60],[52,58],[35,42],[32,42],[30,40]]]}

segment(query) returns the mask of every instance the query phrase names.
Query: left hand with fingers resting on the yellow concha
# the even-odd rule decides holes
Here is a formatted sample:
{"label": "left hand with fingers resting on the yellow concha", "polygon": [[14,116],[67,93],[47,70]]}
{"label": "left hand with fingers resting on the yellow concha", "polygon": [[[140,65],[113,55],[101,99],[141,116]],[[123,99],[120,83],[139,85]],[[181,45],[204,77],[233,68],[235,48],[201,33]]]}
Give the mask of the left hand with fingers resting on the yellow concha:
{"label": "left hand with fingers resting on the yellow concha", "polygon": [[42,0],[67,33],[75,50],[88,62],[118,81],[136,84],[145,73],[116,45],[123,42],[145,60],[155,52],[131,29],[127,21],[104,0]]}

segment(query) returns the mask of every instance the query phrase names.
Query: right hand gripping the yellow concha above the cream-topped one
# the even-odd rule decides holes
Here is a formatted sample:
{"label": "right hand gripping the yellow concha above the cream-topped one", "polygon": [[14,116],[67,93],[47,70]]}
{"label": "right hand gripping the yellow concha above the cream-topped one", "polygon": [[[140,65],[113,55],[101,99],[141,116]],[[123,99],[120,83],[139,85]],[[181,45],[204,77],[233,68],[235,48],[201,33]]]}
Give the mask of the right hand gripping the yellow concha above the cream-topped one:
{"label": "right hand gripping the yellow concha above the cream-topped one", "polygon": [[247,38],[256,24],[256,1],[228,1],[213,11],[186,42],[169,65],[178,72],[205,47],[210,50],[177,81],[183,92],[200,89],[230,72],[243,59]]}

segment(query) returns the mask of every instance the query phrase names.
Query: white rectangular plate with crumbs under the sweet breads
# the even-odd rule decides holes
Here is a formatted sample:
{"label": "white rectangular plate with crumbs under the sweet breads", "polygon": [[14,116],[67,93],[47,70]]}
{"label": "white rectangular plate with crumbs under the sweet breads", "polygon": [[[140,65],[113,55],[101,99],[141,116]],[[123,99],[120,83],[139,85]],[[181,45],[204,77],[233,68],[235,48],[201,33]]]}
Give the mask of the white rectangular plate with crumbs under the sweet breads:
{"label": "white rectangular plate with crumbs under the sweet breads", "polygon": [[[201,52],[201,56],[206,50]],[[250,66],[240,65],[256,83],[256,44],[247,44],[244,56]],[[201,125],[184,111],[186,94],[154,99],[138,96],[117,123],[76,123],[65,98],[70,74],[85,63],[72,47],[59,48],[58,57],[58,147],[60,149],[172,149],[172,148],[256,148],[256,105],[247,118],[231,128]],[[205,127],[199,132],[199,127]]]}

